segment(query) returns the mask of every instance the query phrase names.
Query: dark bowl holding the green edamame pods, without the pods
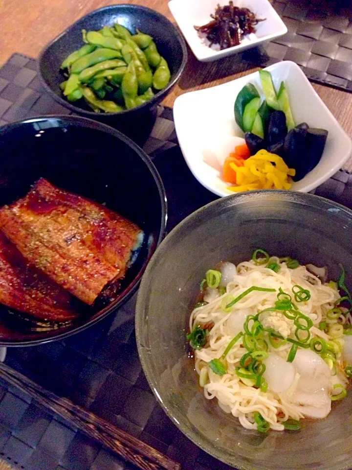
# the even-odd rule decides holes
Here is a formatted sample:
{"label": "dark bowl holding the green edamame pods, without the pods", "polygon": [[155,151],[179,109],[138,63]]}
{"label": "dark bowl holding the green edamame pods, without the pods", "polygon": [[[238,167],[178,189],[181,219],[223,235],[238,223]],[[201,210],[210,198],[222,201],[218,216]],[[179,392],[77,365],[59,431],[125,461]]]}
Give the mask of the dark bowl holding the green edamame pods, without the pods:
{"label": "dark bowl holding the green edamame pods, without the pods", "polygon": [[[132,110],[121,113],[94,113],[83,100],[80,100],[76,106],[64,98],[59,88],[59,84],[65,79],[60,71],[60,64],[68,54],[83,46],[82,29],[98,30],[104,25],[110,26],[115,23],[126,26],[133,33],[136,28],[141,29],[154,38],[160,54],[169,65],[171,80],[163,90],[155,94],[152,100]],[[175,85],[184,69],[186,60],[185,42],[176,27],[167,18],[145,6],[121,4],[92,11],[69,26],[44,47],[39,57],[38,70],[45,90],[61,105],[74,113],[98,119],[123,130],[128,135],[133,135],[135,127],[140,131],[145,127],[146,123],[142,120],[143,115],[155,108]]]}

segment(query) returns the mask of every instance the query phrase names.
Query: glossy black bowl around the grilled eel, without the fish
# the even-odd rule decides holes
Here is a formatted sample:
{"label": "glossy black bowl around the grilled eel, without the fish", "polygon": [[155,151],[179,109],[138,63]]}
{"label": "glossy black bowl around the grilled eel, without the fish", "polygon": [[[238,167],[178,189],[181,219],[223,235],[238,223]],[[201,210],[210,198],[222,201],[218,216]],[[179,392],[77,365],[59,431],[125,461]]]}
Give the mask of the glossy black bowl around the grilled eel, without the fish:
{"label": "glossy black bowl around the grilled eel, without the fish", "polygon": [[73,116],[32,118],[0,127],[0,155],[0,206],[24,196],[44,177],[59,188],[106,203],[138,224],[146,235],[112,303],[105,307],[79,304],[79,319],[61,328],[39,324],[0,304],[0,324],[11,330],[0,336],[0,345],[33,345],[63,338],[123,305],[137,289],[165,229],[165,191],[149,157],[120,132]]}

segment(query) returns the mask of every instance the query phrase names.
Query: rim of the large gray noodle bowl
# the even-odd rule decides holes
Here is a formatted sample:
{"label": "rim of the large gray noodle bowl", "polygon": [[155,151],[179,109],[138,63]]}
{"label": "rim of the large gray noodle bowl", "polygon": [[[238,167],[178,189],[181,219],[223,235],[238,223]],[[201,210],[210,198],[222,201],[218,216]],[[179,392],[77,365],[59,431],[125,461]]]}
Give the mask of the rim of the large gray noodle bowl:
{"label": "rim of the large gray noodle bowl", "polygon": [[[197,211],[194,211],[190,215],[185,217],[181,222],[179,222],[176,225],[174,229],[172,229],[164,237],[162,243],[157,247],[151,260],[149,261],[147,269],[144,271],[142,281],[139,286],[139,290],[137,294],[137,302],[136,302],[136,307],[135,307],[135,336],[136,336],[138,355],[142,364],[143,372],[147,378],[148,384],[150,388],[152,389],[152,392],[157,402],[159,403],[159,405],[161,405],[161,407],[163,408],[167,416],[172,420],[172,422],[176,424],[177,428],[180,429],[180,431],[182,431],[182,433],[185,436],[187,436],[200,449],[203,449],[208,454],[217,458],[221,462],[227,465],[230,465],[233,468],[241,469],[241,470],[258,470],[258,467],[253,466],[248,463],[244,463],[242,460],[242,457],[238,457],[237,455],[235,455],[234,457],[231,457],[233,461],[230,461],[229,458],[224,457],[223,452],[220,449],[218,449],[218,447],[216,447],[215,444],[212,446],[206,445],[205,438],[204,438],[204,442],[202,442],[201,438],[198,438],[196,433],[194,433],[192,430],[188,431],[187,429],[185,429],[185,427],[182,424],[180,424],[182,423],[184,414],[181,413],[176,407],[172,408],[168,402],[166,403],[164,400],[165,394],[160,393],[158,391],[157,380],[155,379],[154,373],[153,373],[152,355],[145,351],[146,349],[148,349],[149,351],[149,348],[143,344],[144,343],[143,336],[144,336],[144,332],[146,330],[146,325],[147,325],[146,322],[144,321],[144,309],[145,309],[145,299],[146,299],[147,292],[148,292],[148,286],[150,284],[150,276],[151,276],[151,273],[154,271],[155,267],[157,266],[159,253],[163,254],[164,252],[167,252],[168,244],[170,243],[171,239],[177,238],[177,235],[180,235],[179,231],[182,230],[184,225],[187,225],[192,219],[203,217],[204,213],[206,215],[207,212],[211,212],[213,207],[217,205],[220,205],[223,208],[234,207],[243,202],[249,201],[250,199],[253,199],[255,197],[257,198],[256,200],[258,201],[258,204],[261,204],[261,201],[263,201],[263,195],[268,196],[267,198],[268,202],[275,202],[274,199],[270,198],[270,195],[279,196],[279,198],[277,198],[277,201],[286,200],[288,202],[289,201],[298,202],[304,205],[309,205],[307,204],[308,200],[317,200],[318,202],[320,201],[320,204],[322,205],[325,205],[325,206],[329,205],[330,208],[331,207],[338,208],[339,210],[347,212],[350,215],[351,220],[352,220],[352,209],[349,209],[343,206],[342,204],[336,203],[326,197],[317,196],[315,194],[300,192],[300,191],[290,191],[286,189],[256,189],[252,191],[245,191],[245,192],[238,193],[238,194],[231,194],[229,196],[216,199],[215,201],[212,201],[206,204],[205,206],[202,206]],[[238,202],[234,203],[233,201],[238,201]],[[322,207],[320,207],[320,210],[323,210]],[[178,240],[181,240],[180,236],[178,236]],[[260,469],[271,470],[270,467],[266,467],[264,465],[261,466]],[[336,467],[334,467],[334,470],[350,470],[350,469],[351,469],[351,464],[348,466],[336,465]]]}

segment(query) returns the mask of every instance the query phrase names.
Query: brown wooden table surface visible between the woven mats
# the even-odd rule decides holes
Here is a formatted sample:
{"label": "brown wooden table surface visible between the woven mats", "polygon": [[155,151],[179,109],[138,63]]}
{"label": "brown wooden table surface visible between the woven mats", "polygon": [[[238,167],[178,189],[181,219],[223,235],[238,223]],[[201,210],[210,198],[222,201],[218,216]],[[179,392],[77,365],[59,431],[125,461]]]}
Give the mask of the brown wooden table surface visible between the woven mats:
{"label": "brown wooden table surface visible between the woven mats", "polygon": [[[104,0],[0,0],[0,65],[14,52],[37,57],[41,48],[69,24],[91,10],[115,2]],[[139,3],[159,11],[173,20],[167,0],[123,0]],[[211,87],[250,73],[238,72],[241,64],[236,56],[209,64],[198,62],[189,50],[189,59],[176,87],[164,104],[173,106],[176,97],[191,90]],[[313,84],[347,133],[352,136],[352,93]]]}

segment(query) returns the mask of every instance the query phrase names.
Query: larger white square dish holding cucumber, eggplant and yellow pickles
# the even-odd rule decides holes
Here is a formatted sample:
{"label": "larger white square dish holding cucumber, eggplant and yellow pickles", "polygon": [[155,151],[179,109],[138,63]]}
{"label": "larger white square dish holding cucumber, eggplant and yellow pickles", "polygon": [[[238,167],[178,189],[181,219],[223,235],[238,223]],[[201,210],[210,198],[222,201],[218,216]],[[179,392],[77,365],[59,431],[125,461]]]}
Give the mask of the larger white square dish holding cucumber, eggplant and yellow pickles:
{"label": "larger white square dish holding cucumber, eggplant and yellow pickles", "polygon": [[[352,153],[352,141],[297,64],[279,62],[265,70],[270,71],[276,89],[281,81],[285,81],[296,124],[307,122],[310,127],[329,132],[320,162],[291,186],[295,191],[311,191],[347,162]],[[231,185],[220,178],[217,169],[205,163],[204,157],[206,152],[216,151],[231,136],[244,136],[234,118],[234,103],[247,83],[253,83],[263,94],[259,73],[254,72],[216,87],[183,94],[177,97],[174,105],[176,134],[185,161],[199,183],[219,196],[233,194],[227,189]]]}

